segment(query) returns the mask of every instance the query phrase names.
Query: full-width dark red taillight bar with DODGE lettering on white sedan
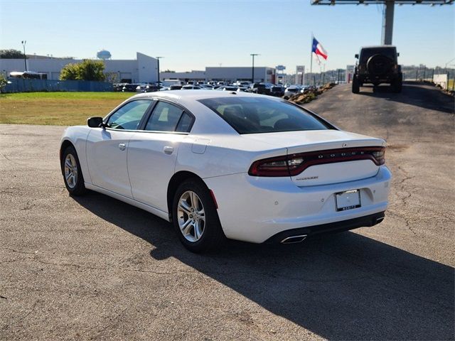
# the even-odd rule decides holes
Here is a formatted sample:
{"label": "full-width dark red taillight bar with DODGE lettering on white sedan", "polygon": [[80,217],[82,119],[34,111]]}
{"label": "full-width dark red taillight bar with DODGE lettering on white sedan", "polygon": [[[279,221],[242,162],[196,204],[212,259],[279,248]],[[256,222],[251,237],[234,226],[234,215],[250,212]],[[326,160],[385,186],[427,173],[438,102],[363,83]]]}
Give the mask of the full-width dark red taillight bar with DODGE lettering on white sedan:
{"label": "full-width dark red taillight bar with DODGE lettering on white sedan", "polygon": [[385,147],[341,148],[263,158],[252,163],[248,174],[252,176],[294,176],[310,166],[355,160],[371,160],[376,166],[381,166],[385,163]]}

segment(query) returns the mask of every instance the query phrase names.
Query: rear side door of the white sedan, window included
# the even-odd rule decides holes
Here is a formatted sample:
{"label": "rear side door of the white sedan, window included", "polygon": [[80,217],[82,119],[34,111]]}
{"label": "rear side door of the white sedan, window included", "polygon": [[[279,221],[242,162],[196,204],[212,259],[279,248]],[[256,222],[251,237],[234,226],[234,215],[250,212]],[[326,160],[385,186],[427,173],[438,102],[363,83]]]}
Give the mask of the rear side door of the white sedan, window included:
{"label": "rear side door of the white sedan, window included", "polygon": [[168,212],[167,189],[176,166],[178,147],[194,117],[182,107],[159,101],[144,131],[129,139],[128,173],[134,200]]}

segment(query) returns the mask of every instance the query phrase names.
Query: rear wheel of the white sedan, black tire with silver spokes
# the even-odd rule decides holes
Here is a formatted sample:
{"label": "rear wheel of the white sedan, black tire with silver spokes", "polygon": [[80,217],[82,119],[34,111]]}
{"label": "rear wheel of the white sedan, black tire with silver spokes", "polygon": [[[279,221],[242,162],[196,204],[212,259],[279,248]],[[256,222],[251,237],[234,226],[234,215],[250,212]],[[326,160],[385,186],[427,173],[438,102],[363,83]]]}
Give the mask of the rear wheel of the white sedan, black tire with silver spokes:
{"label": "rear wheel of the white sedan, black tire with silver spokes", "polygon": [[[198,201],[197,204],[195,203],[193,205],[191,202],[191,193],[196,193],[196,201]],[[186,199],[187,195],[190,197]],[[194,216],[193,220],[191,220],[192,217],[188,213],[191,213],[193,211],[189,212],[188,210],[188,213],[184,212],[184,210],[181,209],[181,206],[179,206],[179,202],[181,202],[181,200],[183,202],[186,202],[186,204],[188,204],[188,201],[190,201],[188,207],[199,207],[197,210],[200,209],[200,205],[198,204],[202,204],[205,220],[203,222],[203,229],[198,229],[198,231],[202,231],[199,233],[200,237],[198,239],[196,239],[196,227],[200,227],[202,222],[198,219],[198,217],[196,217],[196,215]],[[197,220],[195,224],[190,223],[186,225],[188,233],[184,235],[183,229],[181,229],[181,225],[184,226],[185,222],[194,222],[195,220]],[[196,178],[185,180],[183,183],[181,183],[180,186],[178,186],[176,193],[173,196],[172,222],[173,227],[176,229],[176,233],[178,234],[178,238],[180,239],[183,246],[194,253],[201,253],[219,248],[226,239],[225,234],[223,233],[223,229],[221,228],[220,219],[218,218],[215,202],[213,202],[213,198],[211,197],[207,186],[205,186],[202,181]]]}

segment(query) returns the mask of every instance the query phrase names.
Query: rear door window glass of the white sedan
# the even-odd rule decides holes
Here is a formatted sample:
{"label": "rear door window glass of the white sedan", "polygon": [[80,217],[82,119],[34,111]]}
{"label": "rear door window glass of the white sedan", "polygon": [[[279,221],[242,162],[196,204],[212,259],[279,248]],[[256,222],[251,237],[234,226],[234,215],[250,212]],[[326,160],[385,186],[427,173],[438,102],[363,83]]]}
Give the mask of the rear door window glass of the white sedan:
{"label": "rear door window glass of the white sedan", "polygon": [[183,114],[183,110],[168,102],[158,102],[145,130],[149,131],[176,131],[176,126]]}

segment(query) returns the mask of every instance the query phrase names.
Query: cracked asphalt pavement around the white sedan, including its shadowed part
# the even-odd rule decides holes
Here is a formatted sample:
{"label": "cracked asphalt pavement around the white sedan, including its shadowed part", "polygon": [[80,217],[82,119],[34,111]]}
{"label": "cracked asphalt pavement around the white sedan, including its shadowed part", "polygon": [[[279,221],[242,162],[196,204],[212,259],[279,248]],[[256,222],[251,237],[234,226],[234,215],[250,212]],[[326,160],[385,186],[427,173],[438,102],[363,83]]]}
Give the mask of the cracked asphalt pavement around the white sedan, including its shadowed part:
{"label": "cracked asphalt pavement around the white sedan, including its shadowed part", "polygon": [[454,98],[362,90],[306,107],[387,140],[384,222],[203,255],[154,215],[70,197],[63,127],[0,125],[0,340],[454,340]]}

